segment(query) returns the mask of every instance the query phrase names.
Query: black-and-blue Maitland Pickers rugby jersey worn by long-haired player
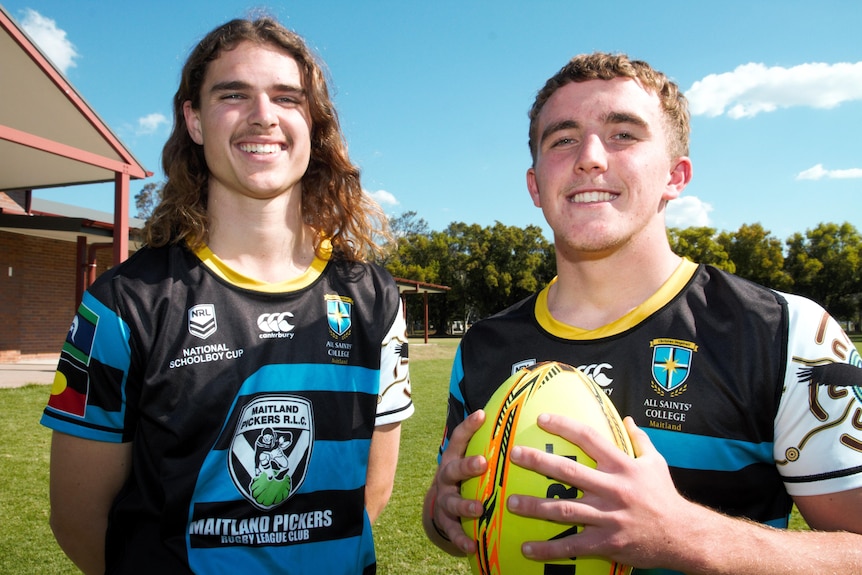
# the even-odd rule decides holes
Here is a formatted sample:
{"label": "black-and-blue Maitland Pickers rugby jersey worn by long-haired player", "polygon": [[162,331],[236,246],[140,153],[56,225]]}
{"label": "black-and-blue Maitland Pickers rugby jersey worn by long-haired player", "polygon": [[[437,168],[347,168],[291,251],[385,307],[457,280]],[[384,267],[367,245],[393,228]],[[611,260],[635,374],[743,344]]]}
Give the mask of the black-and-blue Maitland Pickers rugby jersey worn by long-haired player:
{"label": "black-and-blue Maitland Pickers rugby jersey worn by long-haired player", "polygon": [[372,573],[376,425],[413,412],[398,289],[315,259],[283,284],[144,248],[86,292],[42,423],[133,443],[108,573]]}

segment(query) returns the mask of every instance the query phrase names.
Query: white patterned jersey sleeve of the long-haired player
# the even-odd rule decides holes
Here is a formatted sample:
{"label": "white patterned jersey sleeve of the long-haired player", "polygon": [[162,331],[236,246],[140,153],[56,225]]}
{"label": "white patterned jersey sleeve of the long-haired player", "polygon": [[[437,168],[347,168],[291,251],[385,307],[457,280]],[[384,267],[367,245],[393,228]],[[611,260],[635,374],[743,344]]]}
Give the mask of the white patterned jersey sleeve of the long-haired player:
{"label": "white patterned jersey sleeve of the long-haired player", "polygon": [[401,306],[399,299],[395,321],[381,344],[376,426],[404,421],[414,411],[408,367],[407,324]]}

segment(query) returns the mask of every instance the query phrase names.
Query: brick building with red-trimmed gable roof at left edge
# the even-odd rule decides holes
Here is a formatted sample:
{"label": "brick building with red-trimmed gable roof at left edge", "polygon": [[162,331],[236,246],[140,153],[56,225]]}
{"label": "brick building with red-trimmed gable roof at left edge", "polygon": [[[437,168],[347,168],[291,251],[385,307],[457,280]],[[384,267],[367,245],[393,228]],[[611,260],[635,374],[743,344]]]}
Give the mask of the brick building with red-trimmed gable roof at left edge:
{"label": "brick building with red-trimmed gable roof at left edge", "polygon": [[[58,353],[88,272],[134,249],[129,182],[152,174],[2,6],[0,61],[0,361],[10,362]],[[113,214],[33,198],[103,182],[114,185]]]}

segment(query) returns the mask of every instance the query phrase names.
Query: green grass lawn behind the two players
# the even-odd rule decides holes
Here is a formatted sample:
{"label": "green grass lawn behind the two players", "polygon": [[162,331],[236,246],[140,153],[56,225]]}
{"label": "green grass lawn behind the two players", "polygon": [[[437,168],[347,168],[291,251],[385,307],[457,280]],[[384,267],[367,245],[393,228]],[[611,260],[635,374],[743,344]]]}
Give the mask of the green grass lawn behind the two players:
{"label": "green grass lawn behind the two players", "polygon": [[[862,337],[853,340],[862,352]],[[465,559],[427,542],[420,519],[436,466],[456,345],[454,339],[411,343],[416,413],[404,422],[394,494],[374,527],[382,575],[470,572]],[[0,390],[0,573],[78,573],[48,527],[50,431],[39,425],[48,391],[45,385]],[[805,528],[795,512],[791,527]]]}

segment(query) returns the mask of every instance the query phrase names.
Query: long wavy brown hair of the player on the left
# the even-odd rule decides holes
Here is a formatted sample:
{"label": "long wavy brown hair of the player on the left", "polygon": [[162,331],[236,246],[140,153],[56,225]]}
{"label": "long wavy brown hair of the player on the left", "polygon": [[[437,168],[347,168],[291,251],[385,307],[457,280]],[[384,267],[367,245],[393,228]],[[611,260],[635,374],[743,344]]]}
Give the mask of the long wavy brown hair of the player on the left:
{"label": "long wavy brown hair of the player on the left", "polygon": [[162,150],[167,176],[162,199],[144,229],[147,245],[160,247],[186,242],[197,249],[207,242],[207,184],[209,169],[203,147],[189,135],[183,105],[200,108],[210,62],[240,43],[272,45],[289,54],[299,66],[311,115],[311,159],[302,177],[302,215],[314,229],[315,250],[328,239],[333,255],[364,261],[380,254],[377,238],[387,237],[380,206],[363,190],[359,168],[347,154],[338,115],[329,96],[323,66],[296,33],[270,17],[236,19],[207,34],[183,66],[173,99],[173,131]]}

